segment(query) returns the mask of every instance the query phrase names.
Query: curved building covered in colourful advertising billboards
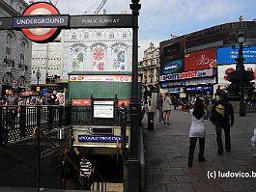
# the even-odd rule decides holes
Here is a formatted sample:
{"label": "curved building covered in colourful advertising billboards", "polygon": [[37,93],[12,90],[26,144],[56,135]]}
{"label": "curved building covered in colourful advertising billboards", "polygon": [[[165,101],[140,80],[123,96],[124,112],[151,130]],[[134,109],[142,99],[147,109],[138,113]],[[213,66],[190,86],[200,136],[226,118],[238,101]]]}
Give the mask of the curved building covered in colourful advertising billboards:
{"label": "curved building covered in colourful advertising billboards", "polygon": [[218,88],[227,88],[228,72],[236,69],[238,32],[246,40],[244,67],[255,71],[256,22],[221,24],[160,42],[160,92],[190,100],[198,95],[213,96]]}

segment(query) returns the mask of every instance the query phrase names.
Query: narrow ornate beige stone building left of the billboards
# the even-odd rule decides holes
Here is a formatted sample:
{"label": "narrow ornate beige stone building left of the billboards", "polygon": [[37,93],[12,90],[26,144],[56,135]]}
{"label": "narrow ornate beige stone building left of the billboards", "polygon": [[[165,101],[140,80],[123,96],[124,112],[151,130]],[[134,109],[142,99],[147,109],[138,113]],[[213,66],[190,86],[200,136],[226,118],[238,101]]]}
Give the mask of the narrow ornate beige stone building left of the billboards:
{"label": "narrow ornate beige stone building left of the billboards", "polygon": [[140,61],[138,66],[138,73],[142,75],[144,89],[158,90],[159,67],[159,47],[151,42],[149,47],[144,50],[143,61]]}

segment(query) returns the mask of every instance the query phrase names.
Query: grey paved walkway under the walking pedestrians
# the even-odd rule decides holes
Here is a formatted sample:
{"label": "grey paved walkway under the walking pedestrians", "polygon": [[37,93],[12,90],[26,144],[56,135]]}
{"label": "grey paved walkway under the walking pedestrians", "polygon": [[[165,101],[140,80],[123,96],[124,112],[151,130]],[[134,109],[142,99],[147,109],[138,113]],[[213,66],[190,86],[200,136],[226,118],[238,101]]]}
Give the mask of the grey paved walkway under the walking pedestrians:
{"label": "grey paved walkway under the walking pedestrians", "polygon": [[[156,131],[144,127],[146,158],[146,192],[183,191],[256,191],[255,178],[208,178],[208,172],[218,171],[256,173],[256,147],[250,146],[256,114],[246,117],[235,114],[235,125],[231,127],[231,152],[217,154],[214,126],[206,121],[206,162],[198,162],[198,143],[193,167],[187,167],[189,146],[188,131],[190,114],[172,110],[171,123],[158,123]],[[222,138],[223,139],[223,138]]]}

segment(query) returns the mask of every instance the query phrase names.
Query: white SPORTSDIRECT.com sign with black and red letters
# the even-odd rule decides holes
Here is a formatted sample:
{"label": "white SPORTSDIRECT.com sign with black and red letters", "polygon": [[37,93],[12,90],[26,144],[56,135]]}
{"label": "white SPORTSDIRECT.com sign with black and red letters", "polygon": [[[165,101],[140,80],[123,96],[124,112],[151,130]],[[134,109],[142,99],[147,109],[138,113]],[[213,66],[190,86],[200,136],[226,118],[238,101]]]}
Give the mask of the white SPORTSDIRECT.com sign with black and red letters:
{"label": "white SPORTSDIRECT.com sign with black and red letters", "polygon": [[172,81],[198,77],[208,77],[215,74],[215,69],[193,70],[181,73],[161,75],[159,81]]}

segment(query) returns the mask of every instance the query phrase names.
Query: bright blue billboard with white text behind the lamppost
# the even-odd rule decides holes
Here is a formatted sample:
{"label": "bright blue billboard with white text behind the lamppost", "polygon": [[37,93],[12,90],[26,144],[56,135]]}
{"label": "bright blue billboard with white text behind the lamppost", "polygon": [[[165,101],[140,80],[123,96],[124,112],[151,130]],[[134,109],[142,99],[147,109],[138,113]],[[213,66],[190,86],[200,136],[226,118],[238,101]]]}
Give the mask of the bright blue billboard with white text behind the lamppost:
{"label": "bright blue billboard with white text behind the lamppost", "polygon": [[[256,63],[256,46],[243,46],[244,63]],[[217,65],[237,64],[235,60],[239,56],[239,47],[232,48],[231,46],[217,49]]]}

